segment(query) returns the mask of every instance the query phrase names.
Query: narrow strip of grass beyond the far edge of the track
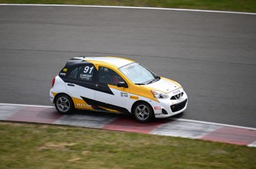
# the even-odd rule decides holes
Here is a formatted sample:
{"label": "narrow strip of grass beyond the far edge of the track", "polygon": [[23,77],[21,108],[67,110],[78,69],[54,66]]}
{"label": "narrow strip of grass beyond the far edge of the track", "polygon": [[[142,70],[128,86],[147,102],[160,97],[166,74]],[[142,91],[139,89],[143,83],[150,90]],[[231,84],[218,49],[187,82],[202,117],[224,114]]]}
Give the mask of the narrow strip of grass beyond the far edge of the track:
{"label": "narrow strip of grass beyond the far edge of the track", "polygon": [[1,4],[85,4],[129,7],[167,7],[256,13],[255,0],[0,0]]}

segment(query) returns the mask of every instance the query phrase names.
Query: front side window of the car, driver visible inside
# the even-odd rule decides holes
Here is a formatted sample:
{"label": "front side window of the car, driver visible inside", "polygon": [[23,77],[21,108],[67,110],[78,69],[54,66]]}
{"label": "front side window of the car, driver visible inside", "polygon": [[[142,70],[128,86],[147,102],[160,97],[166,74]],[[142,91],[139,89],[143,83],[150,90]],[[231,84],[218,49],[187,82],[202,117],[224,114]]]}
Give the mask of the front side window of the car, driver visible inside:
{"label": "front side window of the car, driver visible inside", "polygon": [[99,83],[117,85],[118,82],[124,82],[116,72],[112,69],[108,69],[106,67],[99,66]]}

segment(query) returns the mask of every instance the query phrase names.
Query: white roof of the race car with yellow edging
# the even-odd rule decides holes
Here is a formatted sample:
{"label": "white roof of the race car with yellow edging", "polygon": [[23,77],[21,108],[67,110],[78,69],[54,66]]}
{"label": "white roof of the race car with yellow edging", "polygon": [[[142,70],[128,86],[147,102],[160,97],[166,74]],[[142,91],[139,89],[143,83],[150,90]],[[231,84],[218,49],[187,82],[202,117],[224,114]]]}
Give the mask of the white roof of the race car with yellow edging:
{"label": "white roof of the race car with yellow edging", "polygon": [[82,61],[88,61],[91,63],[96,63],[96,62],[102,62],[102,63],[107,63],[110,64],[112,66],[115,66],[116,68],[125,66],[129,63],[133,63],[135,61],[132,61],[130,59],[127,58],[119,58],[116,56],[95,56],[95,57],[91,57],[91,56],[79,56],[79,57],[75,57],[72,58],[72,60],[82,60]]}

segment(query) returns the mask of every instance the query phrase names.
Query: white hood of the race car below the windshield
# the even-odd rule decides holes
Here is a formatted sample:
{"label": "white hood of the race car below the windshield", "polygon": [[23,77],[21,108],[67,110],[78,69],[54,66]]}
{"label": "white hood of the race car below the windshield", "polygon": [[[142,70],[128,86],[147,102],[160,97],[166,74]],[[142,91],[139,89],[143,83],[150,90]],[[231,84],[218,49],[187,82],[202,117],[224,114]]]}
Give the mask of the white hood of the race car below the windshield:
{"label": "white hood of the race car below the windshield", "polygon": [[174,80],[165,79],[164,77],[161,77],[160,80],[151,84],[143,85],[141,87],[146,87],[152,90],[158,90],[160,92],[168,93],[176,89],[179,89],[181,86]]}

